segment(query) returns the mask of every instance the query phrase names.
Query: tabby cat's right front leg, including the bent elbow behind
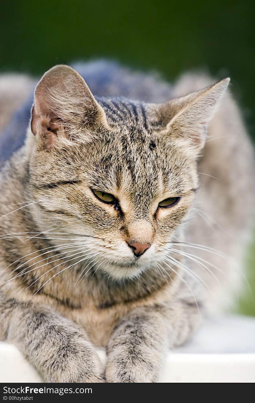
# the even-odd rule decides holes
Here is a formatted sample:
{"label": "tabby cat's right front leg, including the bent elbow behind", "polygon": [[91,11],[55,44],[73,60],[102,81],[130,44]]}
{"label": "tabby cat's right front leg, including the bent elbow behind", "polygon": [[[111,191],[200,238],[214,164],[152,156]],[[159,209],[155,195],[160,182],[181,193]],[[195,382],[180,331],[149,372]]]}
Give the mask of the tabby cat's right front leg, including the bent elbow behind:
{"label": "tabby cat's right front leg, including the bent elbow behind", "polygon": [[182,344],[199,322],[197,305],[187,301],[129,312],[108,344],[106,382],[157,382],[169,347]]}

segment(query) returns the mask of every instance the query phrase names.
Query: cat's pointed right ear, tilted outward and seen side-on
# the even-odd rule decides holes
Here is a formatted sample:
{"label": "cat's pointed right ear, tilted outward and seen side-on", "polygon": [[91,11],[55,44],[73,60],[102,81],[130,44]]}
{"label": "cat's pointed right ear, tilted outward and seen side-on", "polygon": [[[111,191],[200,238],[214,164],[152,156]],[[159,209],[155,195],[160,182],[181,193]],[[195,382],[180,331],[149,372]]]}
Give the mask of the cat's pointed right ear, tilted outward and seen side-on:
{"label": "cat's pointed right ear, tilted outward and seen side-on", "polygon": [[[203,147],[207,125],[213,118],[228,87],[226,78],[211,87],[191,93],[160,106],[160,117],[166,124],[166,132],[181,142],[196,148]],[[164,130],[165,131],[165,130]]]}

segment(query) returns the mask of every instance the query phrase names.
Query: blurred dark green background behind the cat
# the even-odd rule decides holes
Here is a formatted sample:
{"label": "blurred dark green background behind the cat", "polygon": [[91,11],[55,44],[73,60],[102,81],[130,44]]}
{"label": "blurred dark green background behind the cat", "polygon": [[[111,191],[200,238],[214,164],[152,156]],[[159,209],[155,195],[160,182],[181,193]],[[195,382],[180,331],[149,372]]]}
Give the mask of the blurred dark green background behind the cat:
{"label": "blurred dark green background behind the cat", "polygon": [[[188,69],[230,76],[255,138],[254,1],[2,1],[0,70],[40,75],[54,64],[97,57],[173,80]],[[255,290],[255,243],[247,258]],[[252,270],[252,268],[254,270]],[[246,290],[239,309],[255,315]]]}

